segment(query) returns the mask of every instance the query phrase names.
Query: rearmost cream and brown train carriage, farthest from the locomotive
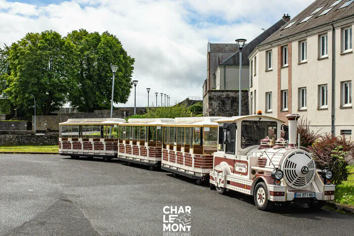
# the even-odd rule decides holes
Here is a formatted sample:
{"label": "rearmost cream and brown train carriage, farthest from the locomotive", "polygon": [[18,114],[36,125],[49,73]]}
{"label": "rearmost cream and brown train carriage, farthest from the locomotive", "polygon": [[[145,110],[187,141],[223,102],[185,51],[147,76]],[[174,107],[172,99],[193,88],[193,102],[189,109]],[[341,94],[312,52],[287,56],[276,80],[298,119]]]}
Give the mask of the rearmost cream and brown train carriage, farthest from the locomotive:
{"label": "rearmost cream and brown train carriage, farthest from the locomotive", "polygon": [[72,158],[116,158],[118,153],[118,125],[124,119],[68,119],[59,124],[59,154]]}

